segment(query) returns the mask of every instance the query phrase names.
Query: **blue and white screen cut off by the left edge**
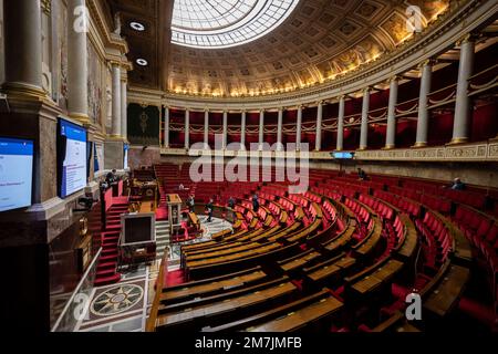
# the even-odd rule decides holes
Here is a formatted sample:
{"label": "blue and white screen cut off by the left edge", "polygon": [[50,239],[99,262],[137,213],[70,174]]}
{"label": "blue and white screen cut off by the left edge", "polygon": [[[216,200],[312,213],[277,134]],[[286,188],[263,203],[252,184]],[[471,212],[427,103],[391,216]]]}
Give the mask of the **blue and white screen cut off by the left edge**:
{"label": "blue and white screen cut off by the left edge", "polygon": [[32,140],[0,137],[0,211],[31,206]]}

